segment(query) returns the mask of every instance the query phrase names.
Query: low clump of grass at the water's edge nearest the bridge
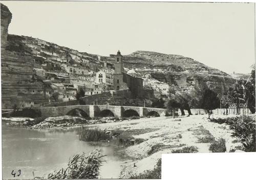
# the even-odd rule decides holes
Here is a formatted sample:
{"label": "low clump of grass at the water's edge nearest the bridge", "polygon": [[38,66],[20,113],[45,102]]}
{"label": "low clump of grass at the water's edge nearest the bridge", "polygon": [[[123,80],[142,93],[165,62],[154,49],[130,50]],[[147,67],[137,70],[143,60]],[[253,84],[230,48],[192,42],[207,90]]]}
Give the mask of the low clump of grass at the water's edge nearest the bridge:
{"label": "low clump of grass at the water's edge nearest the bridge", "polygon": [[103,141],[110,140],[112,137],[106,134],[105,131],[96,127],[82,126],[78,130],[79,140],[82,141]]}

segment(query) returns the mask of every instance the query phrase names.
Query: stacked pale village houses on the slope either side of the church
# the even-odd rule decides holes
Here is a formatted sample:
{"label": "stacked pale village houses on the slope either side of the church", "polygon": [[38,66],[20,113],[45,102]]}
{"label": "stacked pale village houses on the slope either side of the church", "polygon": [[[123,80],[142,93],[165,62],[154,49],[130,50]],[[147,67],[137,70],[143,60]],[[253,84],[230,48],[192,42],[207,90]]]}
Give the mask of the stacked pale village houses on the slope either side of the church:
{"label": "stacked pale village houses on the slope either side of the church", "polygon": [[[111,59],[80,53],[38,38],[8,35],[7,40],[22,43],[33,59],[33,78],[42,81],[47,87],[40,92],[31,90],[35,94],[44,94],[47,101],[43,104],[35,104],[33,99],[27,98],[17,105],[19,108],[49,106],[58,102],[76,100],[80,90],[84,92],[82,96],[116,90],[114,89],[115,65]],[[6,49],[13,52],[15,45],[8,45]],[[110,56],[115,57],[115,55]],[[153,90],[152,97],[166,97],[168,84],[153,79],[150,73],[137,72],[139,70],[125,67],[122,69],[135,78],[141,78],[143,87]]]}

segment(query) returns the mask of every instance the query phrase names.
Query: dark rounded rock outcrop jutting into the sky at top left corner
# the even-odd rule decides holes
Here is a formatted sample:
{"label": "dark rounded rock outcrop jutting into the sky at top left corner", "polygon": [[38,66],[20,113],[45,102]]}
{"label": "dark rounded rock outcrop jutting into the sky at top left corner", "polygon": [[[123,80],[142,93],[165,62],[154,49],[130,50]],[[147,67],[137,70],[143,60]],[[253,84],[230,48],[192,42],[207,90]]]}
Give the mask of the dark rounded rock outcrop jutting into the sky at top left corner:
{"label": "dark rounded rock outcrop jutting into the sky at top left corner", "polygon": [[12,19],[12,13],[7,6],[1,3],[1,48],[6,46],[8,26]]}

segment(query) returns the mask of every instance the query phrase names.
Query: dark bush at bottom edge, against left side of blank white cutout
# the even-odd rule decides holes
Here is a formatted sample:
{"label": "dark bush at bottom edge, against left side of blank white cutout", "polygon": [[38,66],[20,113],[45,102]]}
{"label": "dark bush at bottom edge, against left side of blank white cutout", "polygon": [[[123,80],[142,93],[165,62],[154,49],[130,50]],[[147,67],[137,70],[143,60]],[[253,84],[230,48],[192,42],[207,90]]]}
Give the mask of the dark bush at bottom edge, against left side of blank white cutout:
{"label": "dark bush at bottom edge, against left side of blank white cutout", "polygon": [[153,170],[146,170],[139,175],[132,175],[130,179],[161,179],[162,161],[158,159]]}

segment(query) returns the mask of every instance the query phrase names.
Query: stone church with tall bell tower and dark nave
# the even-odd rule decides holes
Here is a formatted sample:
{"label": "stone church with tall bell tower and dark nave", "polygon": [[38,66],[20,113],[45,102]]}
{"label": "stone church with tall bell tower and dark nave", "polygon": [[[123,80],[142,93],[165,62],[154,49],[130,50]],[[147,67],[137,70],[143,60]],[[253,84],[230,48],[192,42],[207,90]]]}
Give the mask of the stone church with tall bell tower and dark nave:
{"label": "stone church with tall bell tower and dark nave", "polygon": [[[124,72],[123,56],[118,50],[115,56],[114,90],[128,90],[133,98],[143,98],[148,95],[148,90],[143,89],[143,79]],[[154,92],[150,92],[150,94]]]}

